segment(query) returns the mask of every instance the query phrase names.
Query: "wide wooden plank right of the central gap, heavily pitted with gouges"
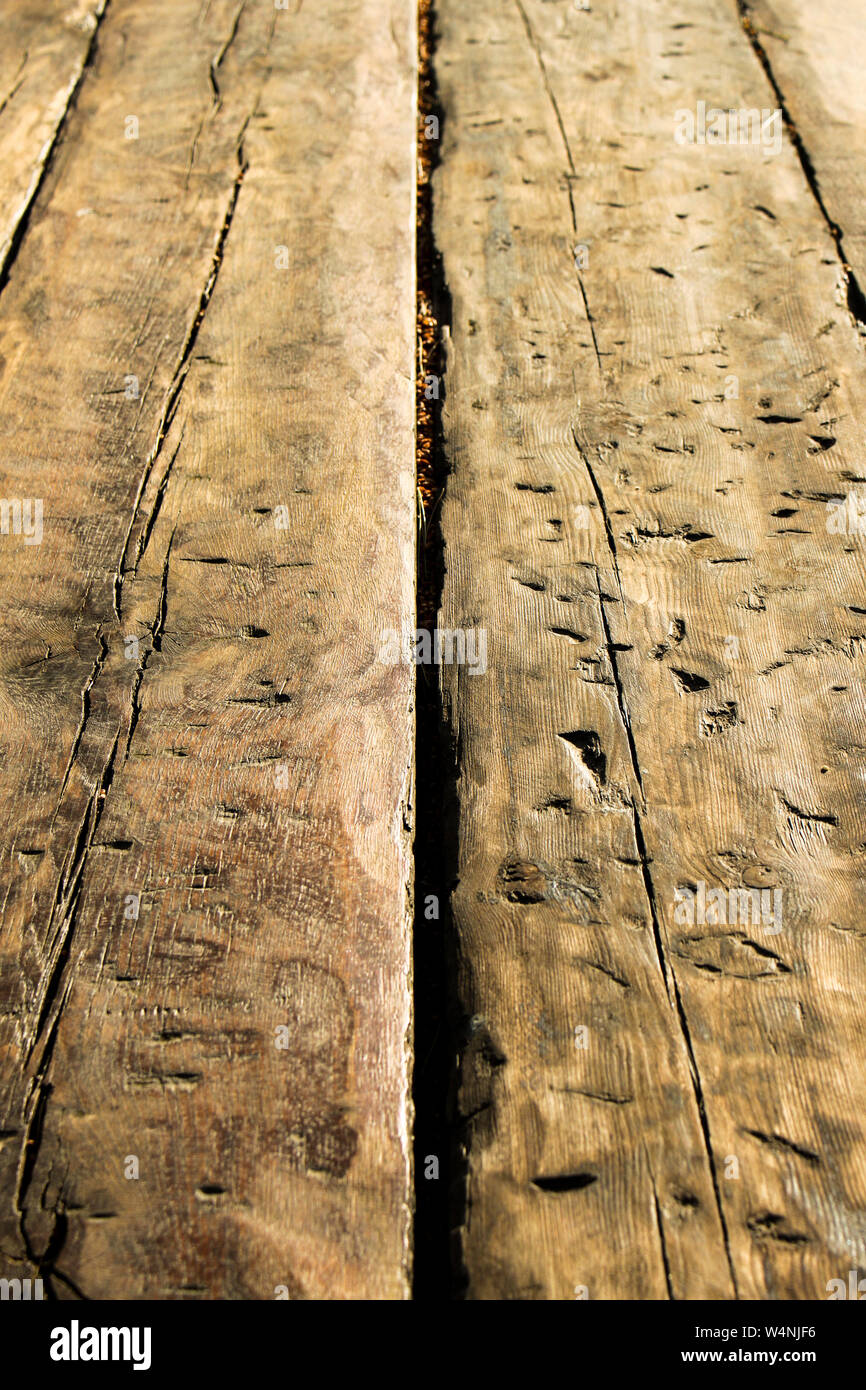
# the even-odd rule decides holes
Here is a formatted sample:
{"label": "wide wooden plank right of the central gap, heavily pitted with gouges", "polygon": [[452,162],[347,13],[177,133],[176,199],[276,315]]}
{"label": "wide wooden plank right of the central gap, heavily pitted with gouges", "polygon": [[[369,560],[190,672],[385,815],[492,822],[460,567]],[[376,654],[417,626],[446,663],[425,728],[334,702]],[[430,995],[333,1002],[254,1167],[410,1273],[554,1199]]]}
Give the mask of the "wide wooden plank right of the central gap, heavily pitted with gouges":
{"label": "wide wooden plank right of the central gap, heavily pitted with gouges", "polygon": [[674,138],[776,107],[734,7],[438,10],[468,1295],[824,1298],[866,1259],[840,260],[773,122]]}

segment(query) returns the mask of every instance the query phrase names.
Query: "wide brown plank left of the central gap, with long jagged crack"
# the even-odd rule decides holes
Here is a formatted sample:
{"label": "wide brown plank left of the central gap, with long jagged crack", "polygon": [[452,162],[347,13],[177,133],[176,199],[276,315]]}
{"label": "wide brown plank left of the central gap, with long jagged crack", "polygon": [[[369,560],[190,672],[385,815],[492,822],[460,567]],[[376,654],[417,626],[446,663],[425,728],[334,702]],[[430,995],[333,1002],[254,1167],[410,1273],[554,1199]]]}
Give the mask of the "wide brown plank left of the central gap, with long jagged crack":
{"label": "wide brown plank left of the central gap, with long jagged crack", "polygon": [[407,1291],[413,56],[114,0],[0,297],[0,1243],[61,1298]]}

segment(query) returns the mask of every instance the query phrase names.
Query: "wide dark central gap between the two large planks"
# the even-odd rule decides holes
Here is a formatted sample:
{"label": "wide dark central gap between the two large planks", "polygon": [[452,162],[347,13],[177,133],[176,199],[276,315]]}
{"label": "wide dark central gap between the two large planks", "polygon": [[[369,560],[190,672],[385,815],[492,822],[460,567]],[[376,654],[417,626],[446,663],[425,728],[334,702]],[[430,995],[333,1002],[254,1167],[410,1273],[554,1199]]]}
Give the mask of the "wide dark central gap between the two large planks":
{"label": "wide dark central gap between the two large planks", "polygon": [[[445,577],[439,507],[448,475],[442,435],[445,352],[450,299],[432,228],[432,175],[443,114],[434,71],[435,10],[418,3],[417,88],[417,377],[418,499],[416,627],[436,627]],[[430,120],[432,118],[432,120]],[[413,1297],[453,1297],[452,1198],[459,1191],[453,1131],[452,1016],[455,969],[449,898],[456,865],[455,758],[443,717],[439,669],[416,666],[414,838],[414,1268]]]}

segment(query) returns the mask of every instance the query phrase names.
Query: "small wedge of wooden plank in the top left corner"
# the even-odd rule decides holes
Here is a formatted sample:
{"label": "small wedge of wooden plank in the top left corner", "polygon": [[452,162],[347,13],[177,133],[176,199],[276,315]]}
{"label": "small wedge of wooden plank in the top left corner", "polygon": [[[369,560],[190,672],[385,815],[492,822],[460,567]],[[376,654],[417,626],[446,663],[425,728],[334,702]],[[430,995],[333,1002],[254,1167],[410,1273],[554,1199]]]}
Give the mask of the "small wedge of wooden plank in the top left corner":
{"label": "small wedge of wooden plank in the top left corner", "polygon": [[10,0],[0,50],[0,282],[90,63],[106,0]]}

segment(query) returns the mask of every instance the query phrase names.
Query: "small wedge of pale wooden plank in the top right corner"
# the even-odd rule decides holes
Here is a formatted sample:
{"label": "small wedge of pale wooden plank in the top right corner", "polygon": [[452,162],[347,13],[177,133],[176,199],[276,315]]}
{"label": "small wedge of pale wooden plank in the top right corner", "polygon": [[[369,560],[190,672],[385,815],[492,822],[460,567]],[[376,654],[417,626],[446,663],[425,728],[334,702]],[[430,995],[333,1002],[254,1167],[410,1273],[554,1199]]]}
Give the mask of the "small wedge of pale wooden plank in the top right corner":
{"label": "small wedge of pale wooden plank in the top right corner", "polygon": [[863,11],[853,0],[740,0],[744,26],[791,121],[815,193],[853,274],[844,291],[866,332]]}

